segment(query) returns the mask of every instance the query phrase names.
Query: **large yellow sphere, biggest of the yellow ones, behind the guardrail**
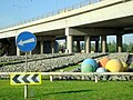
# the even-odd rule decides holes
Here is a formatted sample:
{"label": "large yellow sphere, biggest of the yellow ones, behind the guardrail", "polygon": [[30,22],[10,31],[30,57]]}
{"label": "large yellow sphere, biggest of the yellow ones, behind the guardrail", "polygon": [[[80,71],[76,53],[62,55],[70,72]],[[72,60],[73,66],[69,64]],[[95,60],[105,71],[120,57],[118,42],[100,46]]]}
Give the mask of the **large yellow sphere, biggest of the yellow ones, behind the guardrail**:
{"label": "large yellow sphere, biggest of the yellow ones, behind the guardrail", "polygon": [[123,64],[117,59],[109,60],[105,64],[105,69],[110,72],[122,72],[123,71]]}

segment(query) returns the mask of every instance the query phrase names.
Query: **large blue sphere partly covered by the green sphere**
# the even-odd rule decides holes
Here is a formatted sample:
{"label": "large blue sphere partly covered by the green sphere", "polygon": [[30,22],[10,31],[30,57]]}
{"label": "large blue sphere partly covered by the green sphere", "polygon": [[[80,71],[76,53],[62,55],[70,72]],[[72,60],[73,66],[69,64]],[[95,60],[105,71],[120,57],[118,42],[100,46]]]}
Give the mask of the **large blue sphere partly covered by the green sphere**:
{"label": "large blue sphere partly covered by the green sphere", "polygon": [[84,67],[86,64],[91,64],[92,67],[94,67],[94,71],[98,69],[98,63],[94,59],[85,59],[81,66]]}

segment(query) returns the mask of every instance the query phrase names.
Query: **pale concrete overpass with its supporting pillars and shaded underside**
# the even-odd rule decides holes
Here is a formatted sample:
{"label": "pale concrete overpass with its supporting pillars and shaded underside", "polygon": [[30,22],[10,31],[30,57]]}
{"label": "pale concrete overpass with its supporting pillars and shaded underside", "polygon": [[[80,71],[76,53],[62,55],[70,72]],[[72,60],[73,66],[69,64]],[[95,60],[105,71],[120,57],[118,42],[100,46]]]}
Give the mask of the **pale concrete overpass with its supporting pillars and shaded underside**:
{"label": "pale concrete overpass with its supporting pillars and shaded underside", "polygon": [[[133,0],[100,0],[93,4],[60,10],[49,17],[30,20],[24,23],[1,29],[0,39],[8,38],[16,48],[16,37],[22,31],[30,31],[38,38],[37,48],[32,52],[44,53],[44,48],[54,52],[54,41],[64,37],[66,51],[73,52],[73,41],[80,51],[80,41],[85,41],[85,52],[91,51],[91,38],[99,47],[101,37],[102,52],[106,52],[106,36],[116,36],[117,52],[122,51],[122,36],[133,32]],[[47,43],[50,41],[51,43]],[[47,46],[48,44],[48,46]],[[99,49],[99,48],[98,48]],[[20,54],[19,49],[14,52]]]}

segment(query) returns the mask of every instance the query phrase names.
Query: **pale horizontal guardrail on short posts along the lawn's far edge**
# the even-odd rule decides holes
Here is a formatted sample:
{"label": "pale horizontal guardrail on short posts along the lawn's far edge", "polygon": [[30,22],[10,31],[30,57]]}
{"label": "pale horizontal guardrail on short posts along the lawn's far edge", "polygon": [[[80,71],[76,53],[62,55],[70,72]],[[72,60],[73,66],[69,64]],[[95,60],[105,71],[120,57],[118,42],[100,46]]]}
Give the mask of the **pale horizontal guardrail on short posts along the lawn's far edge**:
{"label": "pale horizontal guardrail on short posts along the lawn's far edge", "polygon": [[[9,79],[10,74],[17,74],[20,72],[0,72],[0,79]],[[21,72],[21,73],[25,73],[25,72]],[[133,72],[41,72],[41,76],[49,76],[50,81],[53,81],[55,79],[55,77],[58,77],[58,80],[60,80],[63,77],[79,77],[76,80],[86,80],[85,77],[91,77],[93,78],[92,80],[94,80],[95,82],[100,81],[100,80],[104,80],[105,77],[111,77],[110,80],[119,80],[119,81],[129,81],[129,80],[133,80]],[[101,79],[102,77],[102,79]],[[115,77],[113,79],[113,77]],[[61,80],[68,80],[68,79],[61,79]],[[69,79],[71,80],[71,79]],[[108,79],[105,79],[108,80]]]}

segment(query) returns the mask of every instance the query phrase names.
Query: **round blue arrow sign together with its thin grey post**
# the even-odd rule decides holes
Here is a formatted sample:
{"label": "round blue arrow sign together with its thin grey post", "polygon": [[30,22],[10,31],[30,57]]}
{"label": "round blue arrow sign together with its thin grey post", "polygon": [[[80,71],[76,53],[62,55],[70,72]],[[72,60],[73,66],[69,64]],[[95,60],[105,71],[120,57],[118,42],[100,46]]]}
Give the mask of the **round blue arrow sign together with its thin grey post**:
{"label": "round blue arrow sign together with its thin grey post", "polygon": [[[21,32],[16,40],[17,47],[20,51],[25,52],[25,67],[24,72],[28,70],[28,52],[32,51],[37,46],[37,38],[29,31]],[[28,84],[24,84],[24,99],[28,98]]]}

